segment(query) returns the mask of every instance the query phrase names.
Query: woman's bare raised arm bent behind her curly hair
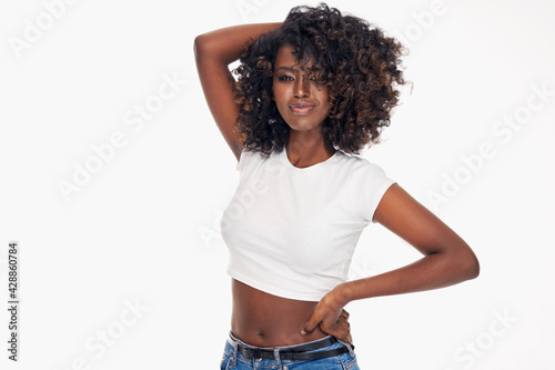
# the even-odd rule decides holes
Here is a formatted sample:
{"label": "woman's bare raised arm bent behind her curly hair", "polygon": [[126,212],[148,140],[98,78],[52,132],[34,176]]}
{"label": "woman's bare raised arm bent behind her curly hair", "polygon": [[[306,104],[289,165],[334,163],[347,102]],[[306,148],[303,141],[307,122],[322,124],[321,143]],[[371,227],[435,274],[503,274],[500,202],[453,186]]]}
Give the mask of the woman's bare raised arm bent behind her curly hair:
{"label": "woman's bare raised arm bent behind her curly hair", "polygon": [[214,121],[239,161],[241,134],[233,131],[239,107],[233,101],[229,64],[239,59],[245,43],[252,38],[273,31],[281,23],[255,23],[222,28],[194,39],[194,57],[202,90]]}

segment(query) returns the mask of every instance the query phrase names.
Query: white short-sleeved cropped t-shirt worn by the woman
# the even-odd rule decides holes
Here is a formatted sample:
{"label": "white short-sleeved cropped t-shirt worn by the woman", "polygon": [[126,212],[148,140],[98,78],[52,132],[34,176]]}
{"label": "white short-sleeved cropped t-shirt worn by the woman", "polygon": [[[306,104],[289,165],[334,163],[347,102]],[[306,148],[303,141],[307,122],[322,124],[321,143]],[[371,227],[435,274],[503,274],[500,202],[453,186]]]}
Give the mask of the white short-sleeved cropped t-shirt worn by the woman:
{"label": "white short-sleeved cropped t-shirt worn by the woman", "polygon": [[346,281],[363,229],[395,183],[379,166],[337,150],[307,168],[286,154],[243,150],[221,220],[228,273],[270,294],[320,301]]}

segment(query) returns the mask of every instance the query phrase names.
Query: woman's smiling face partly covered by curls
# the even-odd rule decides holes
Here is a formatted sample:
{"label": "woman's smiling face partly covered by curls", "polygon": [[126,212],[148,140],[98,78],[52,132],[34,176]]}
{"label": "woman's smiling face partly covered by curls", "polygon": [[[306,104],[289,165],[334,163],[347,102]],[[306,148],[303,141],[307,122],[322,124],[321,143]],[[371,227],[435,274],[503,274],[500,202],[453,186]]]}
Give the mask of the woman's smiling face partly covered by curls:
{"label": "woman's smiling face partly covered by curls", "polygon": [[284,46],[274,63],[273,100],[283,120],[292,130],[319,130],[330,113],[326,86],[309,79],[312,61],[301,66],[293,48]]}

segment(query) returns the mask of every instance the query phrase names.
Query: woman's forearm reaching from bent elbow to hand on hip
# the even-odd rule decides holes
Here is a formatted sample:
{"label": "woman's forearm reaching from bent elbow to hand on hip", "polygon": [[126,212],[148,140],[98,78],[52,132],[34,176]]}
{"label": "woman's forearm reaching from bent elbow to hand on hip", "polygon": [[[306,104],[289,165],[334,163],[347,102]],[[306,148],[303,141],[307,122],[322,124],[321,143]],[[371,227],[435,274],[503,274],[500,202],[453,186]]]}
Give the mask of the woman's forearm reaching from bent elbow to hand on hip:
{"label": "woman's forearm reaching from bent elbow to hand on hip", "polygon": [[396,270],[344,282],[336,287],[336,292],[346,304],[363,298],[444,288],[474,279],[478,273],[480,266],[472,251],[438,252]]}

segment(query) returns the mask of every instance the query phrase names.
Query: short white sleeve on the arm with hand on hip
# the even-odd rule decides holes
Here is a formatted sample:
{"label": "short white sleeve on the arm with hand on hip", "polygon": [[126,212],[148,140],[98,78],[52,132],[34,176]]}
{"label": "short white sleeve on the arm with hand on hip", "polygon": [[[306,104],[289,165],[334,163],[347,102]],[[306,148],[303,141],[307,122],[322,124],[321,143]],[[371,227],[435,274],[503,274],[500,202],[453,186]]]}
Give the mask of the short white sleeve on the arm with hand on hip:
{"label": "short white sleeve on the arm with hand on hip", "polygon": [[351,173],[352,204],[360,217],[367,222],[374,221],[374,212],[385,191],[396,181],[390,179],[377,164],[362,159]]}

